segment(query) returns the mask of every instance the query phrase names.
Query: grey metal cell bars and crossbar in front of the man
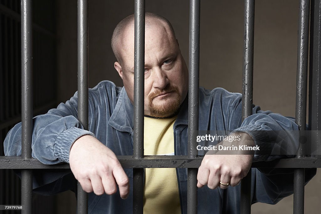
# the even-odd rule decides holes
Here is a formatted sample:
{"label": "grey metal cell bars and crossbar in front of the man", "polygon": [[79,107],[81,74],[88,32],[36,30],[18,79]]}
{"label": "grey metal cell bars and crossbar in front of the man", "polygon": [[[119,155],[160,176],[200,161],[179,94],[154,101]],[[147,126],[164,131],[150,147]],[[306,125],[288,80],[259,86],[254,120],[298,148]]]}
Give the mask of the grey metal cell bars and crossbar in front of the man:
{"label": "grey metal cell bars and crossbar in front of the man", "polygon": [[[0,168],[22,169],[22,204],[23,213],[31,213],[32,171],[33,168],[69,168],[69,165],[48,166],[31,158],[32,132],[32,47],[31,47],[31,8],[28,0],[22,0],[22,157],[1,157]],[[79,90],[79,120],[86,128],[88,126],[88,25],[86,0],[78,0],[78,90]],[[310,1],[301,0],[299,8],[298,35],[298,73],[297,73],[297,115],[296,123],[301,130],[305,128],[305,102],[307,94],[308,70],[308,20]],[[319,100],[320,75],[320,11],[321,1],[311,1],[311,39],[310,39],[310,94],[311,112],[309,125],[318,129],[320,117],[311,119],[313,112],[320,112],[320,106],[312,106],[313,100]],[[253,94],[253,47],[254,47],[254,0],[245,0],[244,11],[244,61],[243,61],[243,119],[252,112]],[[199,86],[199,32],[200,32],[200,1],[190,1],[190,74],[189,74],[189,136],[187,156],[143,156],[143,90],[144,90],[144,21],[145,1],[135,1],[135,77],[134,77],[134,155],[118,156],[123,167],[134,168],[134,201],[133,212],[143,213],[143,168],[148,167],[186,167],[188,168],[188,213],[197,213],[196,175],[202,158],[197,157],[192,131],[198,129],[198,86]],[[315,90],[314,90],[315,89]],[[314,93],[314,91],[317,91]],[[161,160],[161,164],[159,163]],[[313,160],[313,161],[311,161]],[[184,163],[184,164],[182,164]],[[272,162],[258,162],[252,167],[299,168],[294,177],[294,213],[304,212],[304,168],[321,167],[318,158],[302,157],[282,159]],[[250,213],[251,191],[250,175],[241,184],[241,213]],[[87,213],[87,196],[78,187],[78,212]]]}

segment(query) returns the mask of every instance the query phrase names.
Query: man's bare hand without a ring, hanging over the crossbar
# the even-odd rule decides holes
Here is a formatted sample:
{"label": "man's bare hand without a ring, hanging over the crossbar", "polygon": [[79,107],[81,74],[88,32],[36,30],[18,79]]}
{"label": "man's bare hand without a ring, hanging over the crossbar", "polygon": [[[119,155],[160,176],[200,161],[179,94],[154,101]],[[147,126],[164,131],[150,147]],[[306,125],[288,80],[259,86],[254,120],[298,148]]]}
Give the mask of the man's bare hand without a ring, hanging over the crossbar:
{"label": "man's bare hand without a ring, hanging over the crossbar", "polygon": [[69,154],[70,169],[82,189],[96,195],[117,192],[126,199],[129,194],[128,177],[112,150],[91,135],[77,139]]}

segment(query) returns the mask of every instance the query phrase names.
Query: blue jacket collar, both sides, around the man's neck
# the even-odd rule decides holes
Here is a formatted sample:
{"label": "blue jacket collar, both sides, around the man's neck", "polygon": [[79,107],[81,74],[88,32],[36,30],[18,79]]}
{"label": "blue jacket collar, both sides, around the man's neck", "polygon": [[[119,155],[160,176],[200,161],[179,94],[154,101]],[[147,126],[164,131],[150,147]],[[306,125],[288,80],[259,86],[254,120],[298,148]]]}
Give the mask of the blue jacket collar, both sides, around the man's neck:
{"label": "blue jacket collar, both sides, around the man's neck", "polygon": [[[108,124],[121,132],[133,132],[134,127],[134,106],[130,102],[125,87],[119,93],[119,97],[114,108],[113,113],[110,116]],[[174,130],[177,125],[188,124],[188,96],[182,103],[177,119],[174,124]]]}

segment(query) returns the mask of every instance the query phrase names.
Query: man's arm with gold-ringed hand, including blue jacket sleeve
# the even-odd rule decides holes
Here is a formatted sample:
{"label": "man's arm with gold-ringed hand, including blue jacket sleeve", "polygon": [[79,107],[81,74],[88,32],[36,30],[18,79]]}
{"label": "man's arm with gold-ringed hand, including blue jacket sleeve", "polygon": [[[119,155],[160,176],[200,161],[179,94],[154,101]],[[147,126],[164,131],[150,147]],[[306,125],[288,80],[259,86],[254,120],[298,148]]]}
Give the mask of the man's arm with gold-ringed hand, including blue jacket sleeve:
{"label": "man's arm with gold-ringed hand, including blue jacket sleeve", "polygon": [[[225,130],[248,133],[253,143],[260,147],[255,151],[253,159],[245,155],[205,155],[198,173],[198,186],[209,185],[210,188],[226,188],[219,182],[237,185],[250,169],[252,160],[273,160],[282,158],[280,155],[269,155],[272,152],[286,147],[288,157],[295,154],[298,141],[291,132],[282,130],[298,130],[293,119],[286,118],[270,111],[261,111],[260,107],[253,107],[253,115],[243,122],[241,94],[229,93],[221,90],[219,98],[214,97],[213,109],[219,109],[219,113],[225,118],[223,121]],[[214,109],[215,108],[215,109]],[[212,118],[215,120],[215,118]],[[214,121],[216,122],[216,121]],[[268,131],[268,132],[265,132]],[[292,133],[294,133],[292,131]],[[289,143],[291,142],[291,143]],[[294,142],[294,143],[293,143]],[[237,142],[233,142],[236,144]],[[290,145],[290,146],[289,146]],[[263,152],[262,152],[263,151]],[[243,156],[243,158],[241,158]],[[213,172],[213,173],[212,173]],[[293,170],[292,169],[252,169],[252,197],[253,202],[275,203],[281,198],[293,193]],[[306,182],[315,175],[315,169],[306,170]],[[282,179],[280,179],[282,178]],[[230,179],[230,180],[229,180]],[[284,180],[283,180],[284,179]],[[229,182],[230,181],[230,182]],[[210,183],[209,183],[210,182]]]}

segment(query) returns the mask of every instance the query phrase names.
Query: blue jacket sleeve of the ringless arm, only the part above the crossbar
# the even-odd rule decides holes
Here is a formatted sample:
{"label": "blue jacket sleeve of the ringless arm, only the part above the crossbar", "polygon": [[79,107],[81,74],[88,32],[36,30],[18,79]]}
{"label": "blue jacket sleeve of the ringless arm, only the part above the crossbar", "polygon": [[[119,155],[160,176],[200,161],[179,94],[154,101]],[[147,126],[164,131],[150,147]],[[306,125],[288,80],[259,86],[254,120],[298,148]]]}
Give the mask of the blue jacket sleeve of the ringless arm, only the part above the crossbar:
{"label": "blue jacket sleeve of the ringless arm, only the part above the crossbar", "polygon": [[[69,150],[79,137],[93,133],[83,129],[77,119],[77,97],[33,118],[32,157],[43,164],[69,163]],[[21,155],[21,123],[4,140],[6,156]]]}

